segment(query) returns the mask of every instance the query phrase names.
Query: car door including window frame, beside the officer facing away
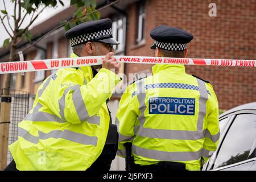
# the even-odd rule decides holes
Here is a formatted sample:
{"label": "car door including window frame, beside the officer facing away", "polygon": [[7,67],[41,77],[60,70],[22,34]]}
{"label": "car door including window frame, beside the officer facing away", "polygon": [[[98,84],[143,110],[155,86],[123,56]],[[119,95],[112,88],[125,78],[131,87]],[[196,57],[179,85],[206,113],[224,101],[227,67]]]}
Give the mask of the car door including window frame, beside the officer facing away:
{"label": "car door including window frame, beside the officer facing away", "polygon": [[256,114],[235,114],[222,138],[211,169],[250,170],[256,160]]}

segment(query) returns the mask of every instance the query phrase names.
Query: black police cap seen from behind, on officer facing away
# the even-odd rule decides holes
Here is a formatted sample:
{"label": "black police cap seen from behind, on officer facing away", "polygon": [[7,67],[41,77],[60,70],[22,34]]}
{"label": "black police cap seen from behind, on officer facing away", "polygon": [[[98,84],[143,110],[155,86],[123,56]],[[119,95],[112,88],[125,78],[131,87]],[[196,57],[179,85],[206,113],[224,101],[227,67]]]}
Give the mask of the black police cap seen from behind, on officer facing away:
{"label": "black police cap seen from behind, on officer facing away", "polygon": [[167,51],[183,51],[187,47],[187,43],[193,39],[193,35],[189,32],[168,26],[153,28],[150,36],[155,40],[151,49],[159,47]]}

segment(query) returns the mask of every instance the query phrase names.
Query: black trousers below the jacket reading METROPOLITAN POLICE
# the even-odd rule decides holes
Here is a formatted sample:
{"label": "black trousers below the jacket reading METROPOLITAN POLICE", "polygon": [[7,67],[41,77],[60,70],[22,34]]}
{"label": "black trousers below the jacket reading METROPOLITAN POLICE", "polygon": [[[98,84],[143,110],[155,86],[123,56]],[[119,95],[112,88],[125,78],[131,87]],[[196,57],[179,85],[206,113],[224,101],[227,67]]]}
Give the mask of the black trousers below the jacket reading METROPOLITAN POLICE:
{"label": "black trousers below the jacket reading METROPOLITAN POLICE", "polygon": [[148,166],[140,166],[139,164],[134,164],[132,171],[168,172],[168,171],[187,171],[187,170],[186,170],[186,165],[184,163],[160,162],[158,164],[152,164]]}

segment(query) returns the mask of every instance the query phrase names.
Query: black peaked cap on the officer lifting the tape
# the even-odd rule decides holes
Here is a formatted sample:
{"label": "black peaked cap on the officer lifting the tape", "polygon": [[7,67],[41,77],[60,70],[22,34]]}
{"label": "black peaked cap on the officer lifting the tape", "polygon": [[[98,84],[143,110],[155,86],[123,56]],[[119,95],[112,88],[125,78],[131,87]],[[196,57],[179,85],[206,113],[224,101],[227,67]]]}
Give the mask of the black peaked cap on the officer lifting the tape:
{"label": "black peaked cap on the officer lifting the tape", "polygon": [[88,41],[102,42],[106,44],[120,44],[112,36],[112,20],[109,18],[81,23],[65,33],[71,46],[86,43]]}

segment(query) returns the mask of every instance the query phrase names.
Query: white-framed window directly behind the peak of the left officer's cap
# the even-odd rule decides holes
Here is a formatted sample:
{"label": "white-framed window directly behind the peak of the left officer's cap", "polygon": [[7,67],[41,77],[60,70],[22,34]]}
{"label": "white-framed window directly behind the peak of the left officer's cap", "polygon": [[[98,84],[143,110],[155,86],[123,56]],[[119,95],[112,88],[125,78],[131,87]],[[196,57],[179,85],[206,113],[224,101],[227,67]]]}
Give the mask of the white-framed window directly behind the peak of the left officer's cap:
{"label": "white-framed window directly behind the peak of the left officer's cap", "polygon": [[117,54],[125,52],[125,37],[126,37],[126,18],[119,15],[118,18],[113,18],[112,23],[113,39],[117,40],[120,44],[115,45],[114,49]]}

